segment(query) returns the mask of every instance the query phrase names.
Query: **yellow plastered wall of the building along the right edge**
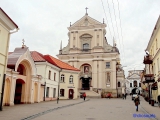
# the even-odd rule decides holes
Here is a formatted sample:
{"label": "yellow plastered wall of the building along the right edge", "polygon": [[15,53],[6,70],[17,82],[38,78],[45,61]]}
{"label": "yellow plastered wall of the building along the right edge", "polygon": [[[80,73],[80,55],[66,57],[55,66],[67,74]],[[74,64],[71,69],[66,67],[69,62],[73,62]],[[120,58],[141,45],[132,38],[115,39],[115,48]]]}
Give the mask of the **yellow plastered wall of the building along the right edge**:
{"label": "yellow plastered wall of the building along the right edge", "polygon": [[[152,32],[151,38],[146,48],[148,59],[152,62],[151,64],[146,64],[144,76],[154,78],[155,82],[149,87],[149,94],[152,99],[157,101],[157,96],[160,95],[160,16]],[[148,53],[149,52],[149,53]],[[147,56],[145,58],[147,60]],[[157,89],[158,87],[158,89]]]}

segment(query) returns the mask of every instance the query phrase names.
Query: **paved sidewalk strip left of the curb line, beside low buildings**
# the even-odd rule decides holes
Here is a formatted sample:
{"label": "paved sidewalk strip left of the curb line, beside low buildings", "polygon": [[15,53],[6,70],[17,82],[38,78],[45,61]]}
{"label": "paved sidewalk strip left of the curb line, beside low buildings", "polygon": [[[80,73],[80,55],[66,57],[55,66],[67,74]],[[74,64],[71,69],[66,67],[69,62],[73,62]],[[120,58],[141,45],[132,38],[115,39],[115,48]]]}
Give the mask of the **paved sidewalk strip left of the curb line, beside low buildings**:
{"label": "paved sidewalk strip left of the curb line, beside low buildings", "polygon": [[28,118],[29,116],[43,113],[47,110],[78,104],[81,102],[84,102],[83,99],[60,100],[58,104],[57,101],[47,101],[34,104],[4,106],[3,111],[0,111],[0,120],[22,120],[24,118]]}

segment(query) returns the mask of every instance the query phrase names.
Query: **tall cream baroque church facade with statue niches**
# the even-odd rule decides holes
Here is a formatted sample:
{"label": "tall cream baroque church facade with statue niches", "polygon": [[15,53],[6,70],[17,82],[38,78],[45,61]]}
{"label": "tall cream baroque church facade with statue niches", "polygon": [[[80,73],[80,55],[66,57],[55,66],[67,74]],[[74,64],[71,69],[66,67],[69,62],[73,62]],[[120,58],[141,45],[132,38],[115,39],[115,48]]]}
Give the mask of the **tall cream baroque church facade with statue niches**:
{"label": "tall cream baroque church facade with statue niches", "polygon": [[68,45],[60,46],[57,57],[80,69],[79,90],[91,90],[101,95],[112,93],[117,97],[116,65],[120,53],[116,44],[108,44],[106,24],[86,13],[68,27]]}

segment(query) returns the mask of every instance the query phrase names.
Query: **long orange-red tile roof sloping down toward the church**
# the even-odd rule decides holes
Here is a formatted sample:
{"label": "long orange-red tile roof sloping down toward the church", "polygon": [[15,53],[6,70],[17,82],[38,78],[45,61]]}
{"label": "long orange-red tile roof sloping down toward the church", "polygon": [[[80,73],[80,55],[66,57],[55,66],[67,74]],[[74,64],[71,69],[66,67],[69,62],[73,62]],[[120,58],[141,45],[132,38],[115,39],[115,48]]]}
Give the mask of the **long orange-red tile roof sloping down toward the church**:
{"label": "long orange-red tile roof sloping down toward the church", "polygon": [[79,69],[62,62],[61,60],[58,60],[50,55],[44,55],[44,58],[51,64],[56,65],[57,67],[60,67],[62,69],[67,69],[67,70],[74,70],[74,71],[80,71]]}

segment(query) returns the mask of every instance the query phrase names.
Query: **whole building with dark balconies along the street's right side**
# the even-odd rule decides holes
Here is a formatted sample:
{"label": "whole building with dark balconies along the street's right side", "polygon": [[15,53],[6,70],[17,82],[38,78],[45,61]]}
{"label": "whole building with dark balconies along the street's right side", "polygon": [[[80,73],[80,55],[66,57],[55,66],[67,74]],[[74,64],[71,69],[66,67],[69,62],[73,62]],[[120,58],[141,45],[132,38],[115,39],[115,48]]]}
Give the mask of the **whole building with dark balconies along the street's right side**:
{"label": "whole building with dark balconies along the street's right side", "polygon": [[160,16],[145,51],[145,69],[142,75],[144,93],[148,100],[157,101],[157,96],[160,95]]}

